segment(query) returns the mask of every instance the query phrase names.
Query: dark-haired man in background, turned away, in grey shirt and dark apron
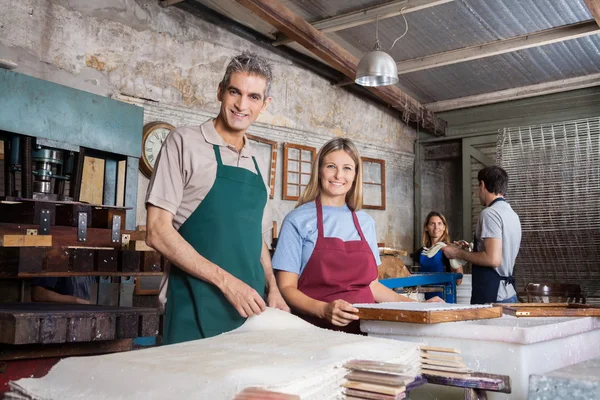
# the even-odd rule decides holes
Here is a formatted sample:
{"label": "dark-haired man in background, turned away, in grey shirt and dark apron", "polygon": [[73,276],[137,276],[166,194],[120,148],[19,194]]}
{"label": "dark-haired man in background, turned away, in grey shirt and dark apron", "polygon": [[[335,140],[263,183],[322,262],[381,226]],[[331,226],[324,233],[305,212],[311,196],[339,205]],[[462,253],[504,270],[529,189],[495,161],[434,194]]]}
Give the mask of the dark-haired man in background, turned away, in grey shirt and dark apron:
{"label": "dark-haired man in background, turned away, in grey shirt and dark apron", "polygon": [[479,215],[473,240],[474,250],[455,246],[442,249],[448,258],[473,264],[471,304],[516,303],[512,277],[521,246],[521,221],[504,199],[508,174],[498,166],[485,167],[477,174],[477,193],[485,208]]}

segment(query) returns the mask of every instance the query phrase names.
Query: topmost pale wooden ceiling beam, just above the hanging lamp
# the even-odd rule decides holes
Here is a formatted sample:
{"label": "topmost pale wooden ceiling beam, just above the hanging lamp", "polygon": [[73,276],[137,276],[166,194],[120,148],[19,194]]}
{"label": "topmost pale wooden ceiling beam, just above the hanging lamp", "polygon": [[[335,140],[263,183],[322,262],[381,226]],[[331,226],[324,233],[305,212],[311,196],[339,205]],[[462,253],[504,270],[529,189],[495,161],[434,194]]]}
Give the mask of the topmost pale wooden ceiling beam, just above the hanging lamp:
{"label": "topmost pale wooden ceiling beam, just above the hanging lamp", "polygon": [[[454,0],[396,0],[379,6],[363,8],[347,14],[326,18],[314,22],[312,26],[326,33],[337,32],[355,26],[375,23],[377,17],[379,17],[379,20],[381,21],[383,19],[397,17],[401,13],[406,15],[453,1]],[[402,11],[402,9],[404,10]],[[294,41],[295,40],[285,35],[285,33],[280,33],[277,35],[277,40],[273,42],[273,45],[280,46]]]}

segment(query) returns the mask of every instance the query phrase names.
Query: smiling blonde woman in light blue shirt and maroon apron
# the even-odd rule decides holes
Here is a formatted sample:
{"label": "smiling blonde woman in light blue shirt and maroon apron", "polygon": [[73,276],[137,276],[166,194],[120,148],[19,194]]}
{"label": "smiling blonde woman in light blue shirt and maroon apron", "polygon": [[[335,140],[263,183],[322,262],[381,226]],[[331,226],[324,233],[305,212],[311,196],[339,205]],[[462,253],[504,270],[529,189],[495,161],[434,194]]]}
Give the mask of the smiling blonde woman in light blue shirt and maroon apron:
{"label": "smiling blonde woman in light blue shirt and maroon apron", "polygon": [[345,138],[327,142],[297,208],[286,216],[273,257],[279,289],[294,313],[351,333],[360,332],[352,304],[412,301],[377,280],[375,224],[359,211],[362,188],[356,146]]}

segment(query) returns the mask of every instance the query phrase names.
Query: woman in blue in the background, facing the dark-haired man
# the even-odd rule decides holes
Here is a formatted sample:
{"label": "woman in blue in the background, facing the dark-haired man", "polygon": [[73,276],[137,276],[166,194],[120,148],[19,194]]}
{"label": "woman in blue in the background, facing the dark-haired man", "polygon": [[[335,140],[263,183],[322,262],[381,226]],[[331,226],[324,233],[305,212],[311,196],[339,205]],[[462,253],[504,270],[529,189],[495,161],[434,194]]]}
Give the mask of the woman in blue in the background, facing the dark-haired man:
{"label": "woman in blue in the background, facing the dark-haired man", "polygon": [[[427,257],[427,250],[431,249],[431,247],[439,242],[451,244],[450,234],[448,232],[448,223],[446,222],[446,217],[444,217],[441,213],[432,211],[427,214],[425,223],[423,224],[423,247],[417,250],[414,254],[414,262],[421,266],[419,272],[456,272],[462,274],[462,266],[456,270],[452,269],[450,267],[450,260],[441,251],[438,251],[431,258]],[[462,279],[456,280],[457,285],[460,285],[461,283]],[[425,293],[425,300],[429,300],[435,296],[442,297],[442,292]]]}

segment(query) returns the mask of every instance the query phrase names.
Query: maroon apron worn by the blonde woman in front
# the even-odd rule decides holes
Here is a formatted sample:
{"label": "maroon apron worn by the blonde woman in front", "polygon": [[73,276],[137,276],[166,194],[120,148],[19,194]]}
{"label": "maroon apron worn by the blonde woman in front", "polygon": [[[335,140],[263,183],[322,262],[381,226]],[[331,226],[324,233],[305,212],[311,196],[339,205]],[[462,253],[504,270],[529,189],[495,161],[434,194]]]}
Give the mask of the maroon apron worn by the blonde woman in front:
{"label": "maroon apron worn by the blonde woman in front", "polygon": [[[369,285],[377,279],[377,263],[360,229],[356,213],[352,211],[352,219],[360,240],[344,242],[339,238],[326,238],[323,233],[321,199],[317,197],[315,203],[319,236],[313,253],[298,280],[298,290],[308,297],[326,303],[338,299],[350,304],[375,303]],[[305,316],[302,318],[322,328],[360,333],[358,321],[339,327],[318,318]]]}

